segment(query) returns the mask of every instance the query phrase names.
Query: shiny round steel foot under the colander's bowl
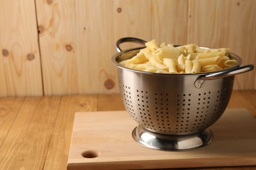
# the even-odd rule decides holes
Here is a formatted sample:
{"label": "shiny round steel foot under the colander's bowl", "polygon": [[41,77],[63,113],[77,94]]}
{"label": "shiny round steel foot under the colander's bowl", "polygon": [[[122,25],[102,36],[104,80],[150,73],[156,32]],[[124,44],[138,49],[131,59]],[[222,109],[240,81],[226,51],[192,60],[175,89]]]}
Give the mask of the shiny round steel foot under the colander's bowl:
{"label": "shiny round steel foot under the colander's bowl", "polygon": [[191,135],[163,135],[137,126],[133,129],[132,136],[137,143],[147,148],[165,151],[186,151],[211,143],[214,133],[208,128]]}

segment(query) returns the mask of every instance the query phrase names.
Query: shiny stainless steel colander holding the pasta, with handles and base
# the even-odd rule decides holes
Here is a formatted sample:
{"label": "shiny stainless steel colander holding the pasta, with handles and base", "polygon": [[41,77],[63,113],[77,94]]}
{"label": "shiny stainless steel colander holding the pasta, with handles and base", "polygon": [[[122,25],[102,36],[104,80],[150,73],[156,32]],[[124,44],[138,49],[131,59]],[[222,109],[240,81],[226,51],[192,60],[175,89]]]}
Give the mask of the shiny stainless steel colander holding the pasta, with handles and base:
{"label": "shiny stainless steel colander holding the pasta, with handles and base", "polygon": [[125,109],[139,124],[133,130],[135,141],[163,150],[186,150],[210,143],[213,131],[207,128],[226,109],[234,75],[251,71],[253,65],[240,67],[242,59],[229,53],[238,63],[223,71],[199,74],[136,71],[119,65],[119,61],[132,58],[141,48],[121,51],[119,44],[123,42],[143,44],[145,41],[120,39],[118,53],[112,58]]}

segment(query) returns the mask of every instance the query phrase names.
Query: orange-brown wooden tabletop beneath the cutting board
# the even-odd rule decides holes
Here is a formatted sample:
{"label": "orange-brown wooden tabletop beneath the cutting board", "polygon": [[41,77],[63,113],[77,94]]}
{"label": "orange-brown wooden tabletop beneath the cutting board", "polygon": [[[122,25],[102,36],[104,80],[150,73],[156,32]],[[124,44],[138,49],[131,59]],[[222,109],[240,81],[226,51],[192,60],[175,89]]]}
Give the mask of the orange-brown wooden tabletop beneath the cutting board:
{"label": "orange-brown wooden tabletop beneath the cutting board", "polygon": [[[256,116],[256,90],[234,91],[228,107]],[[0,169],[66,169],[75,112],[107,110],[124,110],[119,94],[0,98]],[[234,168],[256,169],[221,169]]]}

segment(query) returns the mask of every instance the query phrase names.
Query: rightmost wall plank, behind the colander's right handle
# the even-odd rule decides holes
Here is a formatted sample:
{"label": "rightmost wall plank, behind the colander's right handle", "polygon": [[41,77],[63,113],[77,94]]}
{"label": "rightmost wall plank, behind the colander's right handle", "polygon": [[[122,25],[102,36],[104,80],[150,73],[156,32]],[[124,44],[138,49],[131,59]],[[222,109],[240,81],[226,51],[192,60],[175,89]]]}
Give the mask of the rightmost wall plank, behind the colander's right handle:
{"label": "rightmost wall plank, behind the colander's right handle", "polygon": [[[188,43],[213,48],[227,47],[256,64],[256,1],[189,1]],[[256,71],[236,76],[234,89],[255,88]]]}

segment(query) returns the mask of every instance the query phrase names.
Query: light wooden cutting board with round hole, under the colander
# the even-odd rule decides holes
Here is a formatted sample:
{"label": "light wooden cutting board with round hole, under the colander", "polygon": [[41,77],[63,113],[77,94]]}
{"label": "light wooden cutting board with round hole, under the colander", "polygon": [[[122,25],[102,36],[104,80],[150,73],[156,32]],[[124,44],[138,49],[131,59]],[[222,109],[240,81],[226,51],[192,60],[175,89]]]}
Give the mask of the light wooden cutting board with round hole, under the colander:
{"label": "light wooden cutting board with round hole, under the colander", "polygon": [[247,109],[226,109],[211,129],[212,143],[167,152],[136,143],[137,123],[126,111],[75,114],[68,169],[154,169],[256,165],[256,119]]}

